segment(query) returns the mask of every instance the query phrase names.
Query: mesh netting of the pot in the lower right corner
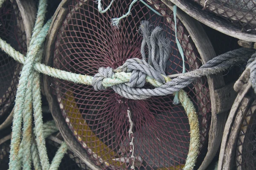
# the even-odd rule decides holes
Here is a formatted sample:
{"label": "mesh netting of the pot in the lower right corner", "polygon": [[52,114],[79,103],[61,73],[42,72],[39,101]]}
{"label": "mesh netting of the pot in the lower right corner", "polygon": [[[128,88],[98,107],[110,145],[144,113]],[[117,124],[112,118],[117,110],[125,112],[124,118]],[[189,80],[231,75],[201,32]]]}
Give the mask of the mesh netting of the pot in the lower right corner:
{"label": "mesh netting of the pot in the lower right corner", "polygon": [[236,149],[236,168],[238,170],[256,169],[256,104],[250,106],[244,117]]}

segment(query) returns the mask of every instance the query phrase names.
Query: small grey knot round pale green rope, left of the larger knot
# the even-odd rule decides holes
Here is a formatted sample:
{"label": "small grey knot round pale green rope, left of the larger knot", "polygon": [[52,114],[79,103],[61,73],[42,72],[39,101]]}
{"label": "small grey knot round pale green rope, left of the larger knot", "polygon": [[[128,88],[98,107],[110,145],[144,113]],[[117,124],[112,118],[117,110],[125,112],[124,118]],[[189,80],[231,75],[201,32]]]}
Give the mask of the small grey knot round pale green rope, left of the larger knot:
{"label": "small grey knot round pale green rope, left of the larger knot", "polygon": [[95,74],[92,80],[92,86],[96,91],[105,90],[106,88],[102,85],[102,81],[105,78],[111,78],[114,75],[113,68],[99,68],[99,73]]}

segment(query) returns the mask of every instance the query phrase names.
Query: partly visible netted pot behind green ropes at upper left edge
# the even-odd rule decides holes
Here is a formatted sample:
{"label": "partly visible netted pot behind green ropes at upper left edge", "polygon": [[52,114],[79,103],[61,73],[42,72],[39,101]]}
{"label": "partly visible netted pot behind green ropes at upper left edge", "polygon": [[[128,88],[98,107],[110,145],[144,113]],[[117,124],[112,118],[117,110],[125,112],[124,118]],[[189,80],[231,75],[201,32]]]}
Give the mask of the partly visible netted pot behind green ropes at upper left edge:
{"label": "partly visible netted pot behind green ropes at upper left edge", "polygon": [[[0,8],[0,37],[22,54],[26,54],[34,23],[35,3],[31,0],[6,0]],[[0,130],[12,122],[21,66],[0,51]]]}

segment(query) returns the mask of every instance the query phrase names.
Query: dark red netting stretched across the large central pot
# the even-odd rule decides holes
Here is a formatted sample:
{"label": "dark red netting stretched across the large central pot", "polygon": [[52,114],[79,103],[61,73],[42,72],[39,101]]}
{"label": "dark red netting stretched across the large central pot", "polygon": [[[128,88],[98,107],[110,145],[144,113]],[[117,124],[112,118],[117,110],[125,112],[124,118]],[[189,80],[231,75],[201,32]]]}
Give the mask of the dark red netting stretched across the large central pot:
{"label": "dark red netting stretched across the large central pot", "polygon": [[[164,14],[160,17],[143,3],[136,3],[131,15],[111,26],[110,19],[128,11],[130,0],[115,0],[110,10],[99,14],[92,0],[72,1],[55,42],[53,66],[77,74],[93,76],[100,67],[117,68],[126,59],[141,58],[140,22],[148,20],[163,27],[173,47],[166,74],[182,71],[182,59],[175,43],[172,11],[161,1],[150,4]],[[110,1],[103,1],[106,7]],[[177,34],[183,47],[186,71],[199,68],[201,57],[183,24],[177,20]],[[173,105],[173,96],[145,100],[125,99],[113,90],[95,91],[87,85],[51,78],[62,115],[88,156],[102,169],[126,169],[131,166],[127,110],[134,122],[135,165],[137,169],[157,169],[185,164],[189,149],[189,122],[181,105]],[[152,88],[150,85],[147,88]],[[202,77],[184,89],[192,99],[200,122],[200,154],[207,152],[211,105],[207,78]],[[60,113],[61,114],[61,113]],[[142,158],[142,162],[138,157]]]}

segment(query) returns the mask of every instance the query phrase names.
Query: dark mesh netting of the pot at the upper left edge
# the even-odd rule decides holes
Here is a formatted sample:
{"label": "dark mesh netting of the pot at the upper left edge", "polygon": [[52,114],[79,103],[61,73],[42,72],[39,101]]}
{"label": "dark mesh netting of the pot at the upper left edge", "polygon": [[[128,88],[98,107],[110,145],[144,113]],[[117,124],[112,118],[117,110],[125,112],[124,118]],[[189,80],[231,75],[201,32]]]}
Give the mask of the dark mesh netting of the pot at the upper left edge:
{"label": "dark mesh netting of the pot at the upper left edge", "polygon": [[[13,0],[6,0],[0,8],[0,37],[15,50],[23,54],[26,52],[23,21]],[[0,117],[12,108],[20,68],[20,64],[0,50]],[[4,119],[1,118],[2,120]]]}

